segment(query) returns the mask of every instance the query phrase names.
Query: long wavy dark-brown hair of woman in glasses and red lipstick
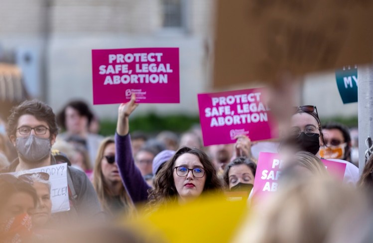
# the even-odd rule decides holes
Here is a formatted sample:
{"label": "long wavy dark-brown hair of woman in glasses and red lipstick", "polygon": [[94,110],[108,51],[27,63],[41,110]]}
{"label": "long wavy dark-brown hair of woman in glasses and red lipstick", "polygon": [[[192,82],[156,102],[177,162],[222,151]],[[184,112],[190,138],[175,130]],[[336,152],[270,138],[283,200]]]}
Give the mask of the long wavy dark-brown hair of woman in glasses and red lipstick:
{"label": "long wavy dark-brown hair of woman in glasses and red lipstick", "polygon": [[182,154],[196,155],[205,169],[206,182],[203,193],[222,191],[222,183],[217,176],[217,170],[210,158],[197,148],[183,147],[169,159],[162,169],[157,173],[154,179],[154,189],[149,191],[148,207],[157,207],[168,202],[175,202],[177,199],[177,190],[173,179],[173,170],[176,159]]}

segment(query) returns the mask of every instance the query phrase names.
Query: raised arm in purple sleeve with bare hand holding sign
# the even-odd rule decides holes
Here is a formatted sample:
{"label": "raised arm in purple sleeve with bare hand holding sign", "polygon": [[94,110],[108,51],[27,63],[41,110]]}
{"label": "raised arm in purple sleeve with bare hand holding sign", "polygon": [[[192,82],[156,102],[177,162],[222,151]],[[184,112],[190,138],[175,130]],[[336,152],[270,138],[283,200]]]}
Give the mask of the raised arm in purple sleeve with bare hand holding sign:
{"label": "raised arm in purple sleeve with bare hand holding sign", "polygon": [[115,135],[118,168],[123,184],[133,203],[146,201],[148,196],[147,190],[150,189],[150,186],[143,179],[140,171],[134,164],[131,140],[128,134],[128,118],[137,105],[138,104],[135,103],[135,95],[132,94],[129,102],[122,103],[119,106],[117,132]]}

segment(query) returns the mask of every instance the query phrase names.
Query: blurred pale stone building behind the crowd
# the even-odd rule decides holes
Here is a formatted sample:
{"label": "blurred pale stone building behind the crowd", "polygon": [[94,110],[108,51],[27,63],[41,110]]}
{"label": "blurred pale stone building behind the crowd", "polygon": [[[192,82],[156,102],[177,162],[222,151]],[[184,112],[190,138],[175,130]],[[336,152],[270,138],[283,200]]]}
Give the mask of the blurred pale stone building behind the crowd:
{"label": "blurred pale stone building behind the crowd", "polygon": [[[180,104],[144,104],[136,114],[196,116],[197,93],[215,91],[210,75],[214,2],[0,0],[0,61],[17,65],[28,95],[58,111],[73,98],[92,104],[92,49],[179,47]],[[357,116],[357,103],[343,105],[333,71],[304,80],[301,104],[319,106],[323,117]],[[94,110],[99,117],[115,119],[117,107],[98,105]]]}

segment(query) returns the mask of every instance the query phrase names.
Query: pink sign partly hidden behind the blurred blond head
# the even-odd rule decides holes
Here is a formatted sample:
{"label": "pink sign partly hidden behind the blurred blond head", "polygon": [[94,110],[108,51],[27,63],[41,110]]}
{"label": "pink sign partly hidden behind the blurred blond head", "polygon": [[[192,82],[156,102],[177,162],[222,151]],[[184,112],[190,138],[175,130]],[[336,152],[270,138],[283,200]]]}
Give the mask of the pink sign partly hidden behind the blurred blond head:
{"label": "pink sign partly hidden behind the blurred blond head", "polygon": [[[346,164],[331,161],[321,160],[329,174],[341,182],[345,176]],[[278,179],[281,177],[282,159],[280,154],[274,153],[259,153],[259,158],[256,167],[254,187],[252,189],[252,197],[255,201],[258,198],[265,197],[266,195],[277,191]]]}

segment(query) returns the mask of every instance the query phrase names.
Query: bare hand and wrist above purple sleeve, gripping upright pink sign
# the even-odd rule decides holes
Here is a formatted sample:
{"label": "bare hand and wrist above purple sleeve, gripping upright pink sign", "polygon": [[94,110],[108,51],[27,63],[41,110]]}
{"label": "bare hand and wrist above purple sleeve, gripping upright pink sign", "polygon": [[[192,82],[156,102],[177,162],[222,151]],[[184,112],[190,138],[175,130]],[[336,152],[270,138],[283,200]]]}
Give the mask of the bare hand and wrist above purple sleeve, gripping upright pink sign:
{"label": "bare hand and wrist above purple sleeve, gripping upright pink sign", "polygon": [[138,106],[135,103],[136,95],[131,94],[131,99],[127,103],[122,103],[118,107],[118,122],[117,122],[117,133],[118,135],[124,136],[129,132],[128,117]]}

